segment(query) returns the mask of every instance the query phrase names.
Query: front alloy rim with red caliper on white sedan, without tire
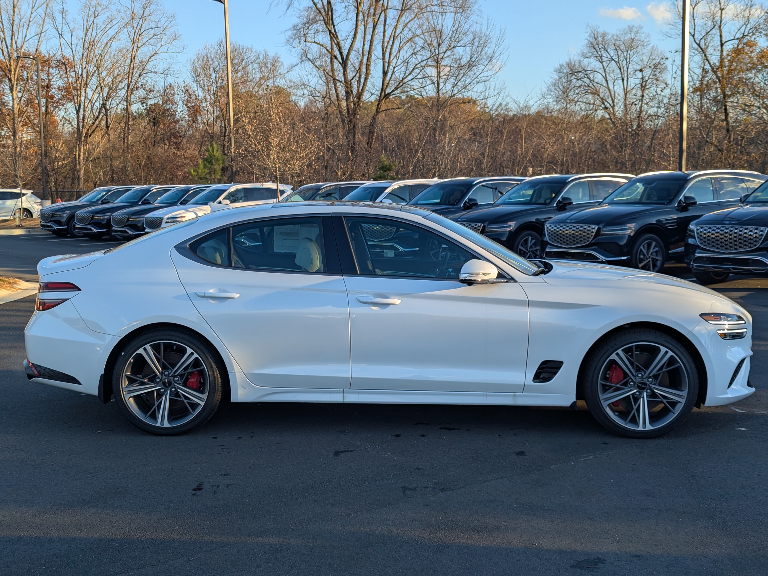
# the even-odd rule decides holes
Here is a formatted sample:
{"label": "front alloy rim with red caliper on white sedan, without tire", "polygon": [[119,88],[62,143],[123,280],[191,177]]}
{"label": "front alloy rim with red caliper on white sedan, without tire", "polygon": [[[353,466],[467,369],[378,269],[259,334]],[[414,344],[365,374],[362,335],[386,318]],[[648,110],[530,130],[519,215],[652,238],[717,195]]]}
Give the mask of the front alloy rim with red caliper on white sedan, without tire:
{"label": "front alloy rim with red caliper on white sedan, without tire", "polygon": [[624,429],[660,428],[680,414],[688,399],[684,366],[676,353],[658,343],[623,346],[601,368],[600,405]]}

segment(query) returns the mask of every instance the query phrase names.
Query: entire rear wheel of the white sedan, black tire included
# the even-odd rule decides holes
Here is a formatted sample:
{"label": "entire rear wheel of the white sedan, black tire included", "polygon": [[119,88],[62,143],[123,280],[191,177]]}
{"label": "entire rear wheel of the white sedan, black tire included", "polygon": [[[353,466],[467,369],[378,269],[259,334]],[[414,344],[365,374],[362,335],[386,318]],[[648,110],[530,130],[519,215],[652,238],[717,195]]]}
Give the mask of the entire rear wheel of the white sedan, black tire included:
{"label": "entire rear wheel of the white sedan, black tire included", "polygon": [[[189,353],[194,356],[187,361]],[[161,372],[146,361],[147,354]],[[179,371],[175,378],[174,369]],[[184,434],[217,411],[226,373],[217,353],[199,337],[156,329],[124,346],[112,372],[112,392],[121,412],[137,428],[157,435]]]}

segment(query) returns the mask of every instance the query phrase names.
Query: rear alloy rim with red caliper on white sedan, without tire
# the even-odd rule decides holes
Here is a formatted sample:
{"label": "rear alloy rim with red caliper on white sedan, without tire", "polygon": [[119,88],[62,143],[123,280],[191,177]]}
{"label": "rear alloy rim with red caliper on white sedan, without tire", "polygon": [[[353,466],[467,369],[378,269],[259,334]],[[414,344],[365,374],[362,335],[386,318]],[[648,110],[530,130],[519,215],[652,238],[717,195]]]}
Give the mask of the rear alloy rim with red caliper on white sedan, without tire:
{"label": "rear alloy rim with red caliper on white sedan, without tire", "polygon": [[171,428],[203,408],[210,379],[189,346],[159,341],[141,346],[125,364],[120,393],[128,409],[147,425]]}

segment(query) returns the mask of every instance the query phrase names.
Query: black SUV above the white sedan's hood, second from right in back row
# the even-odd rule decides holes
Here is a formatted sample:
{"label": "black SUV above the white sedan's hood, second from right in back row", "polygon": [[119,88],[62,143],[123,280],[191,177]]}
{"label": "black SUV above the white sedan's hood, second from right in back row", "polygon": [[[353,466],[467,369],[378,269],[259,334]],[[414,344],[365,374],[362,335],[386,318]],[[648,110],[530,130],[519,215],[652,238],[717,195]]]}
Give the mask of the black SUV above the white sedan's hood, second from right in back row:
{"label": "black SUV above the white sedan's hood, second from right in back row", "polygon": [[668,257],[683,256],[691,222],[737,205],[766,178],[747,170],[641,174],[598,206],[550,220],[545,257],[628,263],[658,272]]}

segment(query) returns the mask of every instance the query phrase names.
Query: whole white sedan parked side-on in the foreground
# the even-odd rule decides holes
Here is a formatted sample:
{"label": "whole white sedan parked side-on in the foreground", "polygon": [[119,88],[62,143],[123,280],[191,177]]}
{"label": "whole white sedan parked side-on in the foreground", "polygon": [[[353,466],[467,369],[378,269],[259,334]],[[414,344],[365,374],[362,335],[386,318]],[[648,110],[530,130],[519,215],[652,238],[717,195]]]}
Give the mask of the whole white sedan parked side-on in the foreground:
{"label": "whole white sedan parked side-on in the foreground", "polygon": [[529,262],[415,207],[221,210],[38,265],[28,377],[178,434],[233,402],[575,406],[663,434],[736,402],[752,320],[660,274]]}

